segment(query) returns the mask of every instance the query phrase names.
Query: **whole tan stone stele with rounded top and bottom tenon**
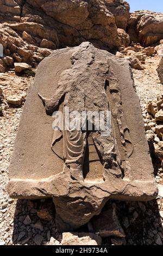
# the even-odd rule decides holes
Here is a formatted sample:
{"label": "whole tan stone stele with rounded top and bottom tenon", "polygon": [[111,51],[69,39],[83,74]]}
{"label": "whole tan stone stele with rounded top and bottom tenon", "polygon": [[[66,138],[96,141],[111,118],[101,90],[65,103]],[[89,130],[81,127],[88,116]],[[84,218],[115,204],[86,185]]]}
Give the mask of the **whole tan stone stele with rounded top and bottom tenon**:
{"label": "whole tan stone stele with rounded top and bottom tenon", "polygon": [[[86,111],[87,124],[89,112],[110,111],[108,135],[95,118],[91,130],[88,125],[54,130],[53,112],[59,109],[64,123],[67,107],[70,121],[72,111]],[[153,166],[129,62],[90,42],[45,58],[28,90],[9,173],[10,197],[53,198],[61,231],[89,222],[109,199],[155,198]]]}

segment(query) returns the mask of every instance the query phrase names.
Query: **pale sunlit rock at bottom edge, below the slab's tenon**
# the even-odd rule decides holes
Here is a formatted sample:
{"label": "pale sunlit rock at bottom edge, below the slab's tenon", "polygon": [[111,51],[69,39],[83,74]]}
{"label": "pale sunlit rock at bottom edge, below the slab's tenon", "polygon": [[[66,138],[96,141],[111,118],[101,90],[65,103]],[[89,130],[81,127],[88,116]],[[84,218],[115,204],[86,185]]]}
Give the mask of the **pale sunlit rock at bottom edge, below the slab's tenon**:
{"label": "pale sunlit rock at bottom edge, below the slab's tenon", "polygon": [[101,245],[100,236],[93,233],[63,233],[61,245]]}

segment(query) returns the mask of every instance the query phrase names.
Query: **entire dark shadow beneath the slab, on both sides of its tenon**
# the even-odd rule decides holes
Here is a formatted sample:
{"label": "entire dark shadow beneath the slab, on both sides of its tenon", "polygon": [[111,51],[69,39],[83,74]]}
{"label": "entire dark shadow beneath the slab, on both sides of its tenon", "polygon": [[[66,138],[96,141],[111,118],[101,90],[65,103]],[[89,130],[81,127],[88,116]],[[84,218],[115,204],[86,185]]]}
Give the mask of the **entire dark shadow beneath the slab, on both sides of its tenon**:
{"label": "entire dark shadow beneath the slab, on both sides of its tenon", "polygon": [[[104,225],[104,228],[108,228],[109,231],[106,230],[106,234],[111,232],[111,228],[112,234],[118,234],[118,227],[118,232],[120,230],[123,234],[124,230],[126,237],[125,239],[123,235],[102,237],[103,245],[111,245],[112,243],[116,245],[162,245],[163,222],[159,214],[161,205],[163,206],[163,199],[149,202],[109,200],[105,204],[101,215],[93,217],[89,223],[76,231],[100,234],[101,230],[97,230],[97,220],[99,221],[99,217],[109,212],[110,209],[115,209],[118,219],[116,216],[114,220],[117,220],[118,224],[115,226],[110,222],[109,228],[109,219],[105,218],[101,222],[101,228],[103,228],[102,225]],[[12,235],[12,241],[15,245],[46,245],[51,237],[59,241],[60,235],[55,225],[52,199],[17,201]]]}

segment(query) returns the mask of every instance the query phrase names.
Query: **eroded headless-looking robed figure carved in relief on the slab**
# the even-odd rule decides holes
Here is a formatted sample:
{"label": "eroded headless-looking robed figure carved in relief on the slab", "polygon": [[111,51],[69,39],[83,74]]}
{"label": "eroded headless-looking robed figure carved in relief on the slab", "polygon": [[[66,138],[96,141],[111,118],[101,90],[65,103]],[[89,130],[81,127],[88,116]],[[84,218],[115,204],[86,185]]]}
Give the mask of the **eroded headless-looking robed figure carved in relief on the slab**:
{"label": "eroded headless-looking robed figure carved in relief on the slab", "polygon": [[[47,114],[56,111],[63,99],[64,115],[65,107],[68,107],[70,112],[78,111],[79,113],[110,110],[110,102],[106,94],[107,80],[104,80],[104,77],[107,78],[109,74],[109,63],[106,58],[101,62],[96,59],[95,62],[93,52],[95,48],[91,44],[83,43],[80,47],[82,51],[80,49],[74,52],[71,57],[71,68],[60,75],[57,90],[52,98],[46,99],[39,94]],[[71,116],[70,119],[73,117]],[[124,129],[124,132],[126,131],[127,127]],[[86,148],[89,143],[94,144],[103,165],[103,180],[107,179],[109,173],[113,171],[118,178],[122,177],[122,161],[112,120],[110,135],[102,136],[102,132],[100,127],[98,131],[82,130],[82,127],[80,130],[54,131],[52,147],[61,137],[63,138],[64,171],[70,170],[72,179],[84,179]]]}

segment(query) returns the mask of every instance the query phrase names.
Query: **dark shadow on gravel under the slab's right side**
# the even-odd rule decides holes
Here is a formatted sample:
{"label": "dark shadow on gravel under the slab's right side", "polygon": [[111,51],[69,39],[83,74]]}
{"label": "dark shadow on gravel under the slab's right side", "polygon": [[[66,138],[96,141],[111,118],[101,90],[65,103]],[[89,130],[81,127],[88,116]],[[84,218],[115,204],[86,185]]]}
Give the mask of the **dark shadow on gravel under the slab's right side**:
{"label": "dark shadow on gravel under the slab's right side", "polygon": [[[111,204],[111,201],[108,203]],[[126,245],[162,245],[163,229],[159,208],[163,200],[112,203],[117,207],[116,212],[126,234]],[[103,244],[111,243],[111,239],[103,239]]]}

